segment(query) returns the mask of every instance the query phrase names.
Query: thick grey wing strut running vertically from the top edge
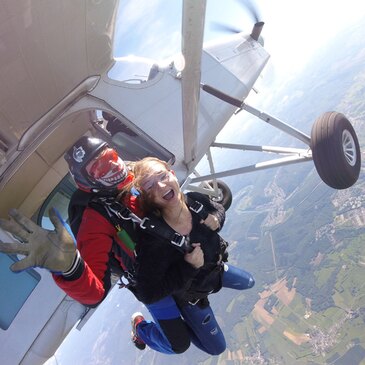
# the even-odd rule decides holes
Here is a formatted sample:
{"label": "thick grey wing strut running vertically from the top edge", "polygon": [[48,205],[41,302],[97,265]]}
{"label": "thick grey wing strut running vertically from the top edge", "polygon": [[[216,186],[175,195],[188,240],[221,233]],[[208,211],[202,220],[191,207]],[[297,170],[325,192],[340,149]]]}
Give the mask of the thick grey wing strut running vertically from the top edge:
{"label": "thick grey wing strut running vertically from the top edge", "polygon": [[196,158],[199,114],[201,56],[206,0],[184,0],[181,50],[185,67],[181,73],[184,161]]}

